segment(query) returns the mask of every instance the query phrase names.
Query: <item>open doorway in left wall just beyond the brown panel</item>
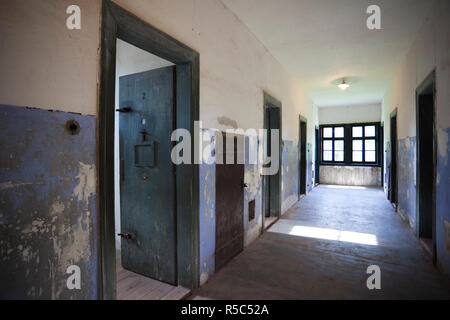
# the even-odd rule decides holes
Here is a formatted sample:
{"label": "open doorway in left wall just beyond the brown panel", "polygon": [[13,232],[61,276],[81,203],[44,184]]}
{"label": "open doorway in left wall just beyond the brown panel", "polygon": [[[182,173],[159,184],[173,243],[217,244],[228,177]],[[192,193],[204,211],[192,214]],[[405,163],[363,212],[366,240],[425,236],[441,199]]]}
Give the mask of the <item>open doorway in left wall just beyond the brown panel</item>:
{"label": "open doorway in left wall just beyond the brown panel", "polygon": [[[281,102],[272,96],[264,93],[264,129],[266,130],[266,137],[264,139],[264,155],[272,157],[272,148],[278,148],[278,170],[274,175],[266,175],[263,179],[263,229],[270,227],[281,215],[281,152],[282,152],[282,138],[281,138]],[[272,141],[272,131],[278,131],[278,146],[270,143]],[[264,161],[265,166],[269,167],[271,164]]]}

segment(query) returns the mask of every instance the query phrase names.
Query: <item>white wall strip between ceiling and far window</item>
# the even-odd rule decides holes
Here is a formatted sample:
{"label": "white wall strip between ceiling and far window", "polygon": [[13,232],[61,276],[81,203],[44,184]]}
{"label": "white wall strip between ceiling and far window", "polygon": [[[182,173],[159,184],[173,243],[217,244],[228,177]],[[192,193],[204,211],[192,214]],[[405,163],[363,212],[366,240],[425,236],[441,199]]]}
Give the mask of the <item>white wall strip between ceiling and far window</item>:
{"label": "white wall strip between ceiling and far window", "polygon": [[379,121],[381,121],[381,103],[319,108],[320,124]]}

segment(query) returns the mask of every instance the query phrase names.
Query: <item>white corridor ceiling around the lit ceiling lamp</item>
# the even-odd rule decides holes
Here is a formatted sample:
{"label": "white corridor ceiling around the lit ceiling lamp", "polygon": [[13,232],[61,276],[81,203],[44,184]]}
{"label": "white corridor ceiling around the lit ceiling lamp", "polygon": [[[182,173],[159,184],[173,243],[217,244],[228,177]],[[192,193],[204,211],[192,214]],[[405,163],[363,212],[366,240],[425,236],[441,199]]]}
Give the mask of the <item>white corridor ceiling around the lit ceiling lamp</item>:
{"label": "white corridor ceiling around the lit ceiling lamp", "polygon": [[[222,0],[318,106],[380,102],[420,27],[429,0]],[[381,8],[369,30],[367,7]],[[347,77],[346,91],[336,81]]]}

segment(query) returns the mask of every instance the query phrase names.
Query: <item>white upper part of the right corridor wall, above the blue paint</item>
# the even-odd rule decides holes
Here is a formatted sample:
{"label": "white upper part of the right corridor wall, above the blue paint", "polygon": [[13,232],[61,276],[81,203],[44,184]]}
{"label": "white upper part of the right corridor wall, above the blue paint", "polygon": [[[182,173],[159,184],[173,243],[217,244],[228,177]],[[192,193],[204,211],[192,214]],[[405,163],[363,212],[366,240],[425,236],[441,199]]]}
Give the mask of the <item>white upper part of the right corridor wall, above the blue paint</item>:
{"label": "white upper part of the right corridor wall, above the blue paint", "polygon": [[450,2],[436,1],[433,13],[419,31],[383,99],[385,141],[389,115],[398,108],[398,138],[416,136],[415,90],[436,69],[436,121],[438,130],[450,125]]}

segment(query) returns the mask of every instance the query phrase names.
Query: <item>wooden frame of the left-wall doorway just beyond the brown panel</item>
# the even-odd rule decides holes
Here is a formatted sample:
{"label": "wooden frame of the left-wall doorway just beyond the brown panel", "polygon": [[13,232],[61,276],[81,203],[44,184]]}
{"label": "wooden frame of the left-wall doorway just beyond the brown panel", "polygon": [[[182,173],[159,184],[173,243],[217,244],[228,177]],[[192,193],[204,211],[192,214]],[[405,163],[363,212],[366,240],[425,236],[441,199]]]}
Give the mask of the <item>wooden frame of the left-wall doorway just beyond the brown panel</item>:
{"label": "wooden frame of the left-wall doorway just beyond the brown panel", "polygon": [[[276,208],[276,217],[279,218],[281,216],[281,197],[282,197],[282,193],[281,193],[281,186],[282,186],[282,177],[281,177],[281,167],[282,167],[282,152],[283,152],[283,146],[282,146],[282,128],[283,128],[283,121],[282,121],[282,104],[279,100],[277,100],[276,98],[274,98],[273,96],[271,96],[270,94],[268,94],[267,92],[264,92],[264,108],[263,108],[263,112],[264,112],[264,117],[263,117],[263,121],[264,121],[264,129],[268,129],[265,127],[266,125],[266,110],[269,108],[277,108],[279,109],[279,113],[280,113],[280,132],[279,132],[279,151],[278,151],[278,163],[279,163],[279,168],[278,168],[278,179],[277,179],[277,183],[278,183],[278,194],[276,195],[270,195],[271,197],[271,201],[270,203],[275,203],[274,207]],[[265,152],[265,150],[264,150]],[[267,183],[267,178],[268,176],[264,176],[263,178],[263,201],[262,201],[262,230],[264,231],[266,226],[265,226],[265,202],[264,202],[264,190],[265,190],[265,185]]]}

